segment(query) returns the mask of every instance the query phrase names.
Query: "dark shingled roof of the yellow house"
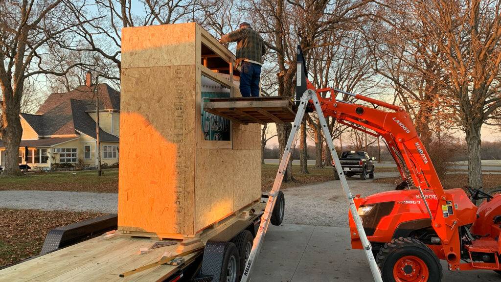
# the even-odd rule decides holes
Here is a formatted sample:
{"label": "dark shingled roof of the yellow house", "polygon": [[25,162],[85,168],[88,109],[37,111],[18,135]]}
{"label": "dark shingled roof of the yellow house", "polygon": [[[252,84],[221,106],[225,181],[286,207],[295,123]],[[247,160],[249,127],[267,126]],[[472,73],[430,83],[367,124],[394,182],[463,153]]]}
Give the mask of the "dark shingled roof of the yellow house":
{"label": "dark shingled roof of the yellow house", "polygon": [[[96,109],[94,93],[83,85],[68,93],[51,94],[36,114],[21,116],[40,136],[76,135],[78,132],[96,138],[96,122],[86,112]],[[107,84],[98,84],[100,109],[120,109],[120,92]],[[78,132],[77,132],[78,131]],[[119,138],[100,128],[102,141],[118,142]]]}

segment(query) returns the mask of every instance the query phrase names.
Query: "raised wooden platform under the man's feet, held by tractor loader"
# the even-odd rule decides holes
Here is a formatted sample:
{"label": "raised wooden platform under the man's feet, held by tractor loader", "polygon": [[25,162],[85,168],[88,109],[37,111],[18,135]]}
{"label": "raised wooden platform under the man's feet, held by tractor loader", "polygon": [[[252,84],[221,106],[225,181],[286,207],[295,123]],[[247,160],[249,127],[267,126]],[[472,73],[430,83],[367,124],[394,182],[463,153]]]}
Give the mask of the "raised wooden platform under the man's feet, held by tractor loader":
{"label": "raised wooden platform under the man's feet, held by tractor loader", "polygon": [[240,124],[293,122],[296,105],[290,97],[211,98],[203,110]]}

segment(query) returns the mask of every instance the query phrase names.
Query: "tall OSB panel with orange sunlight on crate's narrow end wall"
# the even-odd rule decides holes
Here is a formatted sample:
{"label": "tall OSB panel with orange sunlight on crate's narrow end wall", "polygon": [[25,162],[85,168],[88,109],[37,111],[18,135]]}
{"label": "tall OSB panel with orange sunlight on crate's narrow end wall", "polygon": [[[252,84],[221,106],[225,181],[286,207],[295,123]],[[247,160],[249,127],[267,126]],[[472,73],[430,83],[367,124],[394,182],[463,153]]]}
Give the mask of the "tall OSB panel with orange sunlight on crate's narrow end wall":
{"label": "tall OSB panel with orange sunlight on crate's narrow end wall", "polygon": [[119,229],[194,234],[195,67],[121,78]]}

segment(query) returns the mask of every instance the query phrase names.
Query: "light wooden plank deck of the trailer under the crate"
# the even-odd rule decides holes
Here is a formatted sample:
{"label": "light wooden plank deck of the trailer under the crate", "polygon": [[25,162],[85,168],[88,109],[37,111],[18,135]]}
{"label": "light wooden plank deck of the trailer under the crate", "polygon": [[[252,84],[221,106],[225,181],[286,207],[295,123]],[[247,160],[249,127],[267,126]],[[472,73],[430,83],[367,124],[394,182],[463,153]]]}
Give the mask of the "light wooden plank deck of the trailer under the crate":
{"label": "light wooden plank deck of the trailer under the crate", "polygon": [[[264,209],[266,203],[252,206],[255,210]],[[122,273],[155,263],[162,255],[167,256],[198,249],[208,239],[216,236],[232,223],[242,218],[232,217],[219,225],[204,230],[200,238],[186,240],[170,240],[175,244],[159,248],[151,248],[160,241],[145,237],[118,235],[110,239],[99,236],[55,252],[42,255],[20,264],[0,270],[0,281],[9,282],[89,282],[89,281],[163,281],[177,271],[177,266],[162,264],[125,277]],[[169,241],[161,241],[169,242]],[[147,253],[140,254],[141,248],[148,248]],[[189,260],[195,254],[184,257]]]}

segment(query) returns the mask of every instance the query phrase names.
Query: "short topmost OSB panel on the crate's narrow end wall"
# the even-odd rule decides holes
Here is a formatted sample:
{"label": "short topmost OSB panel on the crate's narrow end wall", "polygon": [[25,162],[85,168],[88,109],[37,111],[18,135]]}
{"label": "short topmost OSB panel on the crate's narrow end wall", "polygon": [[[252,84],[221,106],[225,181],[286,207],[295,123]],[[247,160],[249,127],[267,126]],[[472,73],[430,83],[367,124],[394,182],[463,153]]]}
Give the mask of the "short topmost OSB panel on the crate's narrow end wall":
{"label": "short topmost OSB panel on the crate's narrow end wall", "polygon": [[122,69],[195,64],[195,23],[122,29]]}

